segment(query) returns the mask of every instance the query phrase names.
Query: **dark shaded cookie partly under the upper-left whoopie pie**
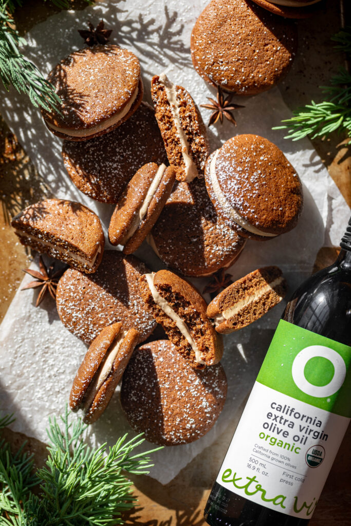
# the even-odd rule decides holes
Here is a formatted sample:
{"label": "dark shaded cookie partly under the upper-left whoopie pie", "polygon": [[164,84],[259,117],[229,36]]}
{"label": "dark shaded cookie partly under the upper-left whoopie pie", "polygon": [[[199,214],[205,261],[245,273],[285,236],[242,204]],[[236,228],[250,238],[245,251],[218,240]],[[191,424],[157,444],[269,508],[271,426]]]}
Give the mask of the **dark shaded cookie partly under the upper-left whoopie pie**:
{"label": "dark shaded cookie partly under the upper-left whoopie pie", "polygon": [[144,164],[167,162],[154,109],[146,103],[111,133],[80,143],[65,140],[62,157],[69,177],[83,194],[113,204]]}

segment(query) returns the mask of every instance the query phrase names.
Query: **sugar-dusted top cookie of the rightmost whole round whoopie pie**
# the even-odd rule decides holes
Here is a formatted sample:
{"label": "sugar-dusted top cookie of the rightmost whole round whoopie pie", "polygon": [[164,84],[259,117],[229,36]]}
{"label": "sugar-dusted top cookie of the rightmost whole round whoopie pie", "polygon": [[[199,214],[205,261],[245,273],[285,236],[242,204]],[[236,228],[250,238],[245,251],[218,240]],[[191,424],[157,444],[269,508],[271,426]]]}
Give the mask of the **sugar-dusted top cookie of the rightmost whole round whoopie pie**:
{"label": "sugar-dusted top cookie of the rightmost whole round whoopie pie", "polygon": [[284,227],[300,214],[299,177],[267,139],[256,135],[229,139],[218,151],[215,169],[225,199],[251,224]]}

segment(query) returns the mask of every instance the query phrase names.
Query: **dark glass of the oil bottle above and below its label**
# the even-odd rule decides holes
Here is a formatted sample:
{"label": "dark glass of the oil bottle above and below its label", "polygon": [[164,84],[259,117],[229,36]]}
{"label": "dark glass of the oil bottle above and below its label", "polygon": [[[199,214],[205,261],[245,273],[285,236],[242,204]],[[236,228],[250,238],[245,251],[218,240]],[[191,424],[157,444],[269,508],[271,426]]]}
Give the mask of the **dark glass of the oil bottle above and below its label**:
{"label": "dark glass of the oil bottle above and below its label", "polygon": [[[351,219],[340,246],[335,263],[295,291],[282,319],[351,347]],[[237,454],[240,456],[240,451]],[[218,482],[209,495],[204,517],[210,526],[304,526],[309,522],[248,500]]]}

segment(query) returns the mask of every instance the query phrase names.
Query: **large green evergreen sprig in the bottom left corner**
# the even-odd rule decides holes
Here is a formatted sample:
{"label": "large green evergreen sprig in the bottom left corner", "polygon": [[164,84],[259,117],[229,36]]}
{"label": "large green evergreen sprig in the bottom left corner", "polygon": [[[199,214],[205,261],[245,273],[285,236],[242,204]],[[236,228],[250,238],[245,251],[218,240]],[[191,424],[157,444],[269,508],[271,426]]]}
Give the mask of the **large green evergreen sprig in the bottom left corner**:
{"label": "large green evergreen sprig in the bottom left corner", "polygon": [[[127,441],[125,435],[105,454],[106,444],[93,449],[84,443],[86,426],[72,421],[67,408],[60,420],[49,420],[48,458],[35,474],[31,456],[23,449],[12,455],[8,444],[0,443],[0,526],[123,524],[121,512],[135,504],[123,470],[147,473],[153,465],[148,455],[156,449],[134,454],[143,439]],[[8,417],[0,419],[0,428],[8,423]]]}

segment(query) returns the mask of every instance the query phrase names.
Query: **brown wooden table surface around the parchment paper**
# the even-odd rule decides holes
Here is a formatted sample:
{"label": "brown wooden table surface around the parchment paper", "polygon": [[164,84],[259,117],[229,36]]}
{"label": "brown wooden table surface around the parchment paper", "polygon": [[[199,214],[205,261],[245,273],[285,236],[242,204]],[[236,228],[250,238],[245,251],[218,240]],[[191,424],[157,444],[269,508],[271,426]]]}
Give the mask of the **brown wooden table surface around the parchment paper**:
{"label": "brown wooden table surface around the parchment paper", "polygon": [[[28,5],[29,4],[29,5]],[[346,4],[350,4],[346,0]],[[81,8],[82,2],[75,2]],[[16,25],[23,34],[33,25],[53,13],[53,8],[40,0],[27,2],[16,15]],[[349,19],[349,18],[348,18]],[[329,0],[312,19],[298,22],[299,50],[293,68],[279,89],[290,109],[322,99],[318,86],[328,84],[330,76],[343,65],[343,57],[332,48],[330,36],[340,26],[339,2]],[[329,174],[351,207],[351,146],[340,144],[342,137],[332,135],[327,140],[315,139],[313,145],[322,157]],[[22,148],[23,146],[23,148]],[[3,120],[0,120],[0,321],[5,315],[22,280],[31,255],[17,242],[9,220],[19,210],[49,195],[45,180],[38,174]],[[347,218],[345,218],[345,222]],[[316,268],[332,262],[335,250],[321,247]],[[127,524],[145,526],[200,526],[205,524],[203,509],[217,471],[229,445],[233,429],[227,429],[209,448],[200,453],[169,484],[139,476],[133,478],[139,505],[126,516]],[[5,437],[14,449],[23,441],[21,433],[5,430]],[[311,526],[348,526],[351,523],[351,488],[349,483],[349,444],[345,437],[330,472],[320,502],[310,521]],[[29,439],[28,449],[35,453],[40,466],[45,458],[45,445]],[[272,524],[272,526],[274,526]]]}

